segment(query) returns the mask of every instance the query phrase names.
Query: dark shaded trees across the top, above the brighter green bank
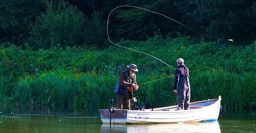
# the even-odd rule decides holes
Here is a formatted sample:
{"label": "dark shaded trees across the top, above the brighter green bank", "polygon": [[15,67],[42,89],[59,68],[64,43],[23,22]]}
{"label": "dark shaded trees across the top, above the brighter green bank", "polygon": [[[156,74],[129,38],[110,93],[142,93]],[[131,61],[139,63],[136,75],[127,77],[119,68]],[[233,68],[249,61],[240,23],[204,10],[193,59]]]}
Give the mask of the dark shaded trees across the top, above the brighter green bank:
{"label": "dark shaded trees across the top, above the brighter green bank", "polygon": [[[70,3],[70,4],[69,4]],[[155,34],[197,40],[233,39],[246,46],[255,40],[256,3],[253,0],[109,1],[109,0],[3,0],[0,2],[0,44],[29,43],[34,49],[51,47],[107,47],[106,21],[112,9],[132,5],[164,14],[183,25],[146,10],[121,7],[109,18],[109,34],[120,39],[146,41]],[[25,47],[22,47],[25,49]]]}

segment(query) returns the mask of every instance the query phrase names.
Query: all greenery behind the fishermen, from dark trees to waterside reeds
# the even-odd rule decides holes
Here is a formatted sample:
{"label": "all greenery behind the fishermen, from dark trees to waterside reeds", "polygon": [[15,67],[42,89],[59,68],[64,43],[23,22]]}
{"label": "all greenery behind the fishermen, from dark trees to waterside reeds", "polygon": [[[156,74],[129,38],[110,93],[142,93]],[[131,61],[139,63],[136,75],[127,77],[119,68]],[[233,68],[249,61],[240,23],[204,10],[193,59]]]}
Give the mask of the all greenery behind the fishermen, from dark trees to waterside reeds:
{"label": "all greenery behind the fishermen, from dark trees to waterside reeds", "polygon": [[225,107],[255,108],[253,0],[2,0],[0,102],[107,108],[119,72],[134,63],[138,104],[174,105],[175,69],[109,42],[106,21],[120,5],[162,13],[204,35],[159,14],[121,7],[109,18],[113,42],[174,68],[183,58],[192,102],[221,95]]}

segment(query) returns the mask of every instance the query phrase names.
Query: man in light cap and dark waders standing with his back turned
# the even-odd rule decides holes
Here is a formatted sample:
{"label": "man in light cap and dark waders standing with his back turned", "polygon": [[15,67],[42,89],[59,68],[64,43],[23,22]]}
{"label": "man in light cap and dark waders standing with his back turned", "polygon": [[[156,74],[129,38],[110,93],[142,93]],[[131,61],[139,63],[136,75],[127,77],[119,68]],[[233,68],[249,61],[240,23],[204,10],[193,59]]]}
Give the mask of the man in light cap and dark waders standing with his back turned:
{"label": "man in light cap and dark waders standing with his back turned", "polygon": [[[175,70],[175,80],[173,91],[178,97],[178,108],[177,110],[188,110],[190,103],[190,84],[189,84],[189,70],[184,65],[184,60],[179,58],[177,61],[178,67]],[[176,89],[178,88],[178,90]]]}

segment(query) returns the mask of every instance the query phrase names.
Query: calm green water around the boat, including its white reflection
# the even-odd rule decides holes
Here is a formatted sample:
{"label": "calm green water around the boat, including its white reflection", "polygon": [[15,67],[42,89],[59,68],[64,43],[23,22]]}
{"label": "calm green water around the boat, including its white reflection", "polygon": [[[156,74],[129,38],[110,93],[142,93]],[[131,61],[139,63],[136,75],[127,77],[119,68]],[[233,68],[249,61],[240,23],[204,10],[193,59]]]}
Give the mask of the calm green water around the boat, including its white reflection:
{"label": "calm green water around the boat, including its white reflection", "polygon": [[1,133],[256,132],[255,111],[221,110],[218,121],[178,124],[102,124],[98,111],[0,104]]}

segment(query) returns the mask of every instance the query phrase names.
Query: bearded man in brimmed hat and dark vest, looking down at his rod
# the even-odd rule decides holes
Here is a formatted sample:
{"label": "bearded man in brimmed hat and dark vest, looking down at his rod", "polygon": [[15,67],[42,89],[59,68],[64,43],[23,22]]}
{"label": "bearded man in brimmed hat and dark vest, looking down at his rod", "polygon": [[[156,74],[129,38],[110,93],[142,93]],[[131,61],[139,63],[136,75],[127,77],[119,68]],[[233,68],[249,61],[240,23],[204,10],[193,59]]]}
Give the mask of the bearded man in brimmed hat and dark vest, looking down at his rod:
{"label": "bearded man in brimmed hat and dark vest, looking down at his rod", "polygon": [[117,86],[115,89],[117,95],[117,109],[128,109],[130,110],[131,102],[130,99],[132,98],[132,92],[139,88],[136,82],[136,75],[137,66],[131,64],[127,66],[125,71],[122,71],[119,74],[119,78],[117,81]]}

